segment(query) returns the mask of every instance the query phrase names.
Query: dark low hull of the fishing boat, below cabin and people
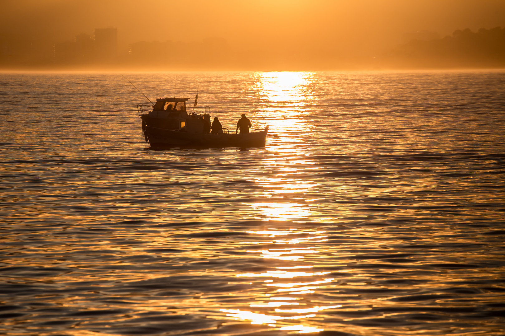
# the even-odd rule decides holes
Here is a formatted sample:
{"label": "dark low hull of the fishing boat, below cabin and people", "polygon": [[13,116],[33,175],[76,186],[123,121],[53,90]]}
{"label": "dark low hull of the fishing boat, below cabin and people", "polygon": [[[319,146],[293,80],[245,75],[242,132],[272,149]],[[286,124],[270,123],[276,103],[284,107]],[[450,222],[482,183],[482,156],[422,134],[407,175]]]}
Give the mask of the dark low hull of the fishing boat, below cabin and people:
{"label": "dark low hull of the fishing boat, below cabin and people", "polygon": [[262,131],[242,134],[204,134],[146,126],[145,132],[151,147],[265,147],[268,127]]}

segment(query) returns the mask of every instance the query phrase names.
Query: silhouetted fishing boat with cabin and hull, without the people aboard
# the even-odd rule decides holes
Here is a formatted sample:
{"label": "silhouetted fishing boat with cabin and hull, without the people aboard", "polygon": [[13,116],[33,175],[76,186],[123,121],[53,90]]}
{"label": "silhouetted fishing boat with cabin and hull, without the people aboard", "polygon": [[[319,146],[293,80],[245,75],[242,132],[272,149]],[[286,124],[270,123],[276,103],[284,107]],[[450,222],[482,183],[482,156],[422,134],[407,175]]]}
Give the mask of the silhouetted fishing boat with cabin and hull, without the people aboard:
{"label": "silhouetted fishing boat with cabin and hull, without the people aboard", "polygon": [[[264,147],[268,133],[265,129],[232,134],[223,127],[223,133],[210,133],[210,107],[200,114],[187,113],[188,98],[159,98],[154,106],[137,105],[142,118],[145,142],[151,147]],[[148,109],[153,110],[148,111]],[[207,126],[206,126],[207,123]]]}

